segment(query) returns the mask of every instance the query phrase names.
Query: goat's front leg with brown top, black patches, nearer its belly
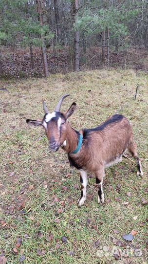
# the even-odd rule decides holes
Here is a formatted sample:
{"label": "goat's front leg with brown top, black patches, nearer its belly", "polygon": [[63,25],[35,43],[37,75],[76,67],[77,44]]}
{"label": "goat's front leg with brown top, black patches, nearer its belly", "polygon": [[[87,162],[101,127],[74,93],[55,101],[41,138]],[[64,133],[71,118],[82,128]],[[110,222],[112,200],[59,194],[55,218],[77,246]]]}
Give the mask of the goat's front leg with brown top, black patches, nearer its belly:
{"label": "goat's front leg with brown top, black patches, nearer its belly", "polygon": [[104,169],[99,170],[95,173],[96,184],[98,185],[98,203],[104,202],[104,193],[103,193],[103,178],[105,176]]}

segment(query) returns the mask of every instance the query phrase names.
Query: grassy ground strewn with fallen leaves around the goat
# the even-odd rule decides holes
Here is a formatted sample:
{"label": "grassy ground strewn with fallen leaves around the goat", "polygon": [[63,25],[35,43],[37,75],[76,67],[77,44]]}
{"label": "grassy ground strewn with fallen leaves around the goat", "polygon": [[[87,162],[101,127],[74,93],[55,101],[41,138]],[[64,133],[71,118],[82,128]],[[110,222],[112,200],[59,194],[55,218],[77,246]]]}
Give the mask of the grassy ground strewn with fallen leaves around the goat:
{"label": "grassy ground strewn with fallen leaves around the goat", "polygon": [[[0,81],[0,88],[7,89],[0,90],[0,250],[8,264],[18,264],[21,255],[26,264],[147,263],[146,83],[146,73],[132,70]],[[77,171],[70,168],[62,150],[48,150],[43,129],[33,129],[25,123],[26,118],[42,118],[42,99],[53,111],[65,93],[71,97],[65,99],[62,110],[77,103],[77,111],[70,119],[77,130],[92,128],[116,112],[127,116],[133,125],[144,176],[136,176],[136,164],[130,156],[108,168],[102,205],[97,204],[95,179],[90,177],[86,203],[77,207]],[[124,241],[122,236],[132,230],[138,232],[133,242]],[[16,245],[18,239],[22,243],[19,240]],[[124,245],[116,246],[119,240]],[[126,251],[128,256],[111,254],[113,246],[123,252],[127,245],[132,248],[129,255]],[[109,247],[106,253],[104,246]],[[137,248],[142,251],[140,257],[134,254]]]}

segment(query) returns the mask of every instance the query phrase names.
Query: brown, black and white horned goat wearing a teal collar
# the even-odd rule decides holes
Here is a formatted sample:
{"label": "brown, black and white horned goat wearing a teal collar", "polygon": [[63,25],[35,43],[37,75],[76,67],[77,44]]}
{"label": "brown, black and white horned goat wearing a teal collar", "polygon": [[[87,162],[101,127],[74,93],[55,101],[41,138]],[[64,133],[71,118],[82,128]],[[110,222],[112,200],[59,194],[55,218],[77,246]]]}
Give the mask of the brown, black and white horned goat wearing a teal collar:
{"label": "brown, black and white horned goat wearing a teal collar", "polygon": [[81,197],[78,200],[78,205],[83,205],[86,200],[87,172],[96,177],[98,203],[104,202],[102,184],[105,167],[120,162],[126,149],[136,159],[137,175],[143,175],[137,146],[133,140],[132,127],[125,116],[115,114],[94,129],[77,132],[67,122],[67,119],[74,113],[76,104],[73,103],[66,112],[60,112],[62,101],[67,96],[69,95],[64,95],[60,99],[52,113],[48,111],[45,102],[43,102],[45,115],[41,122],[30,119],[27,119],[26,122],[35,127],[43,126],[50,149],[55,152],[59,147],[62,147],[68,154],[70,164],[79,170]]}

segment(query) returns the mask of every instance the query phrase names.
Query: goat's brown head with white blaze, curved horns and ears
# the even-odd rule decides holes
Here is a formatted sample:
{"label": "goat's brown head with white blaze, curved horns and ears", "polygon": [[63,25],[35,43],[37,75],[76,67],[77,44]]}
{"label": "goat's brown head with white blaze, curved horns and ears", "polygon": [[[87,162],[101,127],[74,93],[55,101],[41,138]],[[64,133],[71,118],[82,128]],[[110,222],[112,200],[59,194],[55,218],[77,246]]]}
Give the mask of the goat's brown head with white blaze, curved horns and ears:
{"label": "goat's brown head with white blaze, curved horns and ears", "polygon": [[67,119],[74,113],[76,104],[73,103],[69,110],[62,113],[60,112],[61,104],[69,94],[62,96],[59,100],[54,112],[50,113],[43,101],[43,110],[45,115],[42,121],[27,119],[26,122],[34,127],[43,126],[49,140],[49,146],[52,151],[57,151],[66,140],[67,134]]}

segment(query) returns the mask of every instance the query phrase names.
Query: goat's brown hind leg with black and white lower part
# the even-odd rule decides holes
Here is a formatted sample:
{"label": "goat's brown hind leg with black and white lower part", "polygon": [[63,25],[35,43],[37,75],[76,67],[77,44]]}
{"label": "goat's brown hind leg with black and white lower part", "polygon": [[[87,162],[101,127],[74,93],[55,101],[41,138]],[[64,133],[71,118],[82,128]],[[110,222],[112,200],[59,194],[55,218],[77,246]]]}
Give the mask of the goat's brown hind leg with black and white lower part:
{"label": "goat's brown hind leg with black and white lower part", "polygon": [[142,171],[142,166],[141,166],[141,161],[140,161],[140,158],[138,156],[138,152],[137,152],[137,145],[136,143],[134,142],[134,140],[132,139],[129,143],[129,146],[128,146],[128,150],[129,152],[131,153],[131,155],[135,158],[136,160],[136,163],[137,163],[137,168],[138,168],[138,171],[137,171],[137,175],[141,175],[143,176],[143,171]]}

